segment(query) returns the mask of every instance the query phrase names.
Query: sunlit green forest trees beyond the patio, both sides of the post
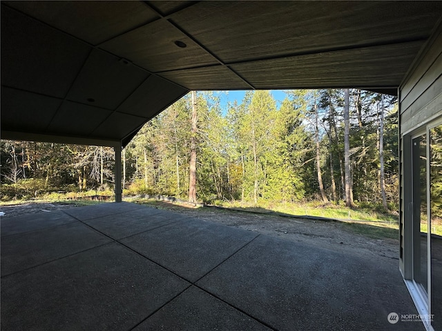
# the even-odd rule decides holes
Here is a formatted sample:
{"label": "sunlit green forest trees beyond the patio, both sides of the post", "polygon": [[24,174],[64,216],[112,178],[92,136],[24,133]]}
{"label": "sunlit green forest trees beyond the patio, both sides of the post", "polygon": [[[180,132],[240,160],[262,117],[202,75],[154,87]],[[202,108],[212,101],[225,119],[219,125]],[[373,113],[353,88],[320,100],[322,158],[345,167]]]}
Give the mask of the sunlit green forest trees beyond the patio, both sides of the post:
{"label": "sunlit green forest trees beyond the patio, both sides of the post", "polygon": [[[398,204],[396,98],[365,90],[190,92],[122,151],[124,195]],[[112,148],[1,141],[1,201],[111,194]]]}

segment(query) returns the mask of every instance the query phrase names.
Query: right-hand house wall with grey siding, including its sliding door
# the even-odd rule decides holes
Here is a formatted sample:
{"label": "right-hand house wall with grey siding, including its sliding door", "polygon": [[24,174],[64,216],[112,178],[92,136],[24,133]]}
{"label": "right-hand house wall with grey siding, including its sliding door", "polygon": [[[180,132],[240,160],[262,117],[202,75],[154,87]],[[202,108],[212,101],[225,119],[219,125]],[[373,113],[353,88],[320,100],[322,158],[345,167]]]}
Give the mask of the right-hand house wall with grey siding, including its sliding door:
{"label": "right-hand house wall with grey siding, including its sliding door", "polygon": [[[422,232],[421,200],[422,184],[420,177],[426,173],[425,194],[427,197],[427,219],[430,223],[430,128],[442,123],[442,23],[434,30],[432,37],[414,62],[407,77],[398,89],[399,101],[399,233],[400,256],[399,268],[407,285],[416,308],[427,330],[442,330],[441,275],[439,261],[441,258],[434,247],[440,245],[440,239],[432,239],[431,231]],[[412,145],[423,143],[426,148],[424,161],[425,172],[421,172],[421,154]],[[416,159],[417,157],[417,159]],[[416,165],[418,165],[416,167]],[[413,167],[415,169],[413,169]],[[413,176],[414,174],[414,176]],[[413,187],[414,186],[414,187]],[[414,202],[414,203],[413,203]],[[429,224],[427,223],[427,225]],[[425,223],[424,223],[425,224]],[[431,223],[430,223],[431,224]],[[426,236],[426,239],[423,239]],[[421,243],[426,241],[426,249],[422,251]],[[431,248],[431,249],[430,249]],[[423,253],[422,253],[423,252]],[[433,256],[438,254],[437,256]],[[433,261],[434,260],[434,261]],[[421,266],[427,265],[426,274]],[[425,267],[424,267],[425,269]],[[433,270],[434,269],[434,270]],[[422,276],[423,275],[423,276]],[[426,280],[425,280],[426,279]],[[425,290],[421,290],[423,287]]]}

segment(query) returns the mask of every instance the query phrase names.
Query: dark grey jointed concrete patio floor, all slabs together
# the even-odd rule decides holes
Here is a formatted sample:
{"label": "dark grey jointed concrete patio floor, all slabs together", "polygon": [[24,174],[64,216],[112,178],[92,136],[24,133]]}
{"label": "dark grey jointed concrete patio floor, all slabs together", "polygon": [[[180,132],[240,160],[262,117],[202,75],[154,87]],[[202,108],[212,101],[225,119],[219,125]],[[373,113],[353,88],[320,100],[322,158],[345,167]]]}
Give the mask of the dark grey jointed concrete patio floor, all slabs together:
{"label": "dark grey jointed concrete patio floor, all slabs together", "polygon": [[2,219],[2,330],[425,330],[391,258],[134,203]]}

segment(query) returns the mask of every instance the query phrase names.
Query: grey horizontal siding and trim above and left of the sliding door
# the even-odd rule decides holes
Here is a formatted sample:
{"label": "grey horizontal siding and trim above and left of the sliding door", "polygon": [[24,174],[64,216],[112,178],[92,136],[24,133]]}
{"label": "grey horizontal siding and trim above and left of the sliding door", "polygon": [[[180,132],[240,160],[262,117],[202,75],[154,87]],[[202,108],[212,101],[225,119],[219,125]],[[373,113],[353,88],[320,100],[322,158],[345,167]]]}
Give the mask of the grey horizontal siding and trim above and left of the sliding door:
{"label": "grey horizontal siding and trim above and left of the sliding door", "polygon": [[[400,268],[411,279],[412,167],[411,135],[426,123],[442,117],[442,23],[398,90],[400,155]],[[404,263],[405,262],[405,263]]]}

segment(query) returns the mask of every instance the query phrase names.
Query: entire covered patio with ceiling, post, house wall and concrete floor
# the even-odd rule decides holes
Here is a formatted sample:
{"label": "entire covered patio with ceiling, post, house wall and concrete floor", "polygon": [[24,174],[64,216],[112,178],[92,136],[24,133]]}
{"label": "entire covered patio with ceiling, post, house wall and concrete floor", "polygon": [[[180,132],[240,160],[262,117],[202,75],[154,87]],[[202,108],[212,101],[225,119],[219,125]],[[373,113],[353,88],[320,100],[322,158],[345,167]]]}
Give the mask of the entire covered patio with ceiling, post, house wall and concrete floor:
{"label": "entire covered patio with ceiling, post, house wall and concrete floor", "polygon": [[442,1],[1,1],[1,139],[113,147],[116,201],[122,148],[191,90],[394,94],[400,154],[397,260],[128,203],[2,219],[2,330],[423,329],[387,321],[415,306],[441,330],[412,165],[442,125],[441,22]]}

